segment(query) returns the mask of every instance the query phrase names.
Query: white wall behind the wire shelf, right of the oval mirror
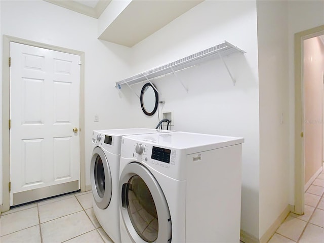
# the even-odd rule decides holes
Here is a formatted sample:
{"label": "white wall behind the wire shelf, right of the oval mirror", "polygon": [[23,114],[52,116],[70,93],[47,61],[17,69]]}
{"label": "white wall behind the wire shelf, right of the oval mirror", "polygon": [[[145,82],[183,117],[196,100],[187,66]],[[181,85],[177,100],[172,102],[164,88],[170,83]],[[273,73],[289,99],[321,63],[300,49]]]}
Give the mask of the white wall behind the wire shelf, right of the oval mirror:
{"label": "white wall behind the wire shelf, right of the oval mirror", "polygon": [[[233,8],[235,5],[235,8]],[[259,236],[259,91],[255,1],[205,1],[133,47],[133,74],[220,44],[246,54],[178,72],[189,92],[169,75],[153,83],[174,113],[173,129],[245,138],[241,228]],[[233,168],[235,170],[235,168]],[[224,182],[226,183],[226,182]]]}

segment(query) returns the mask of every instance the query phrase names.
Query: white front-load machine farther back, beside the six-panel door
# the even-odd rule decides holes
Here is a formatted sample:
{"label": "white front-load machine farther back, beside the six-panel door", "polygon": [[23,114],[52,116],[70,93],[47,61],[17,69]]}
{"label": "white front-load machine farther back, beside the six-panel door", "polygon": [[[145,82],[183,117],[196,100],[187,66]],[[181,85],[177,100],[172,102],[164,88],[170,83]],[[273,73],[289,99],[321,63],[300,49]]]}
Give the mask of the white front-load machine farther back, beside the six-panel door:
{"label": "white front-load machine farther back, beside the six-panel door", "polygon": [[93,209],[102,228],[116,243],[120,242],[118,182],[121,137],[166,132],[170,131],[144,128],[93,131],[90,166]]}

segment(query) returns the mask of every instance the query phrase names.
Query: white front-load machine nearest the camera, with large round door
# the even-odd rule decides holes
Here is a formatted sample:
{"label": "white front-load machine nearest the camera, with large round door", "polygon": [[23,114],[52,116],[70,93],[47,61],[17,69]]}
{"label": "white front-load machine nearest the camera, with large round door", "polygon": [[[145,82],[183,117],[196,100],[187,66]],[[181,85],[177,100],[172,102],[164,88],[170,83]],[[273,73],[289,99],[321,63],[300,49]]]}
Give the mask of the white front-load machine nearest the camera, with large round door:
{"label": "white front-load machine nearest the camera, with large round door", "polygon": [[239,242],[242,138],[123,137],[121,242]]}

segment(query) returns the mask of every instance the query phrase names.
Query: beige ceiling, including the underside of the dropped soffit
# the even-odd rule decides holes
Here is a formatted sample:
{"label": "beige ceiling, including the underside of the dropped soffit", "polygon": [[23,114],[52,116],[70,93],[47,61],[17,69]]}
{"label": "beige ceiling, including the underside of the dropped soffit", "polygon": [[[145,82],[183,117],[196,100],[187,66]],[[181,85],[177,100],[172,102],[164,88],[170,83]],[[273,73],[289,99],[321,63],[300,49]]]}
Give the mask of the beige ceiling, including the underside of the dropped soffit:
{"label": "beige ceiling, including the underside of the dropped soffit", "polygon": [[[99,18],[120,0],[44,0],[69,10]],[[113,1],[113,4],[109,4]],[[133,0],[99,33],[99,39],[133,47],[204,0]],[[109,13],[106,11],[105,15]],[[105,18],[104,18],[105,19]]]}

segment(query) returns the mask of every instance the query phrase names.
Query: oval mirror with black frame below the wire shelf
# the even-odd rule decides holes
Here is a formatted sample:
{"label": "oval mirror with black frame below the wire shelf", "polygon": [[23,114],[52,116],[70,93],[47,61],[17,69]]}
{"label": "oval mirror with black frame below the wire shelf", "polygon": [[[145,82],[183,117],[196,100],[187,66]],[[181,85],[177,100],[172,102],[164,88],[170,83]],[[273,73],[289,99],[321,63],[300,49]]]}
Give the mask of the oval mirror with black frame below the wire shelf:
{"label": "oval mirror with black frame below the wire shelf", "polygon": [[157,109],[158,94],[150,83],[143,86],[140,100],[144,114],[153,115]]}

